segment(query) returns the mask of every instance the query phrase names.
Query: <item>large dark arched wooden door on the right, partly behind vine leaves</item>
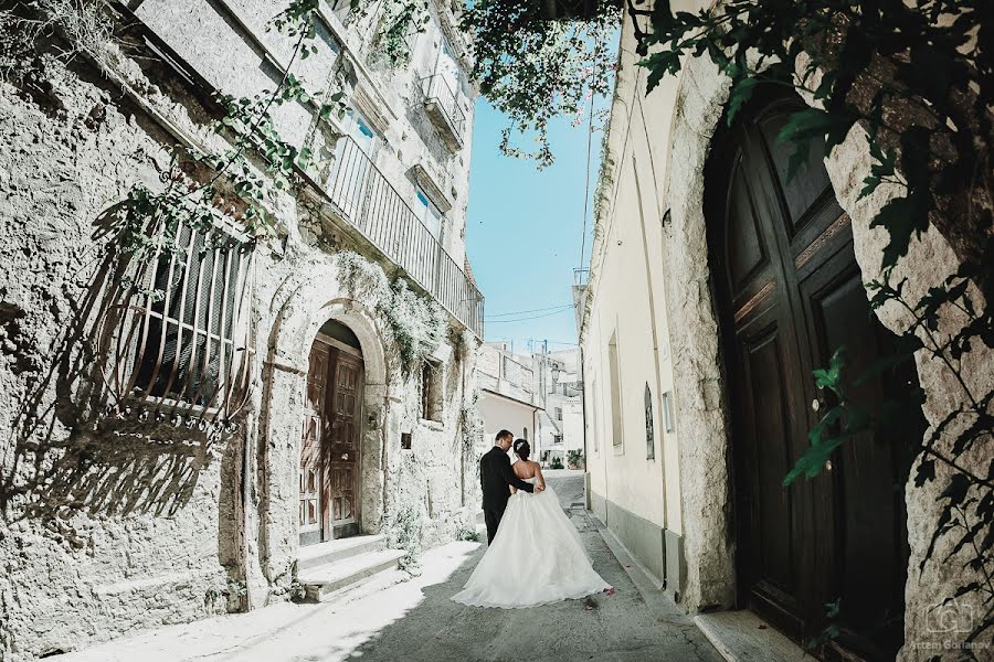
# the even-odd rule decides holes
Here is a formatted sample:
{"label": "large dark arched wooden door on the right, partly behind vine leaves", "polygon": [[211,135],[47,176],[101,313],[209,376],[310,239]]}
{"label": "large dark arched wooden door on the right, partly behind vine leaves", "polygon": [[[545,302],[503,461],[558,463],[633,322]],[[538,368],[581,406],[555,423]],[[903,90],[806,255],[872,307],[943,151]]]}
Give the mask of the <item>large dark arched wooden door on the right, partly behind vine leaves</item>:
{"label": "large dark arched wooden door on the right, partly behind vine leaves", "polygon": [[[765,90],[763,90],[765,93]],[[794,96],[759,94],[722,131],[706,173],[710,261],[731,406],[739,602],[797,640],[828,624],[838,601],[842,636],[822,653],[892,658],[903,633],[907,532],[899,449],[907,429],[845,445],[812,481],[783,488],[826,402],[812,371],[845,345],[858,375],[890,353],[871,314],[822,159],[787,182],[793,148],[776,141]],[[855,395],[906,392],[913,366],[863,384]]]}

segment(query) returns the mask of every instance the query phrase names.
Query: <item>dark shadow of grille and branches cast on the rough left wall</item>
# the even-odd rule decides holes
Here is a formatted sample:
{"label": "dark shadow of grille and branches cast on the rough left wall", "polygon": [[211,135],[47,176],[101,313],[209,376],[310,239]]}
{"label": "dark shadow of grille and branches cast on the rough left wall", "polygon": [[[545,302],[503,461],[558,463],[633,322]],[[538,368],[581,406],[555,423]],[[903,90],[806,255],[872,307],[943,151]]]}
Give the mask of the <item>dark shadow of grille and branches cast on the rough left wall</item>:
{"label": "dark shadow of grille and branches cast on the rough left wall", "polygon": [[[175,514],[211,458],[198,430],[105,414],[109,397],[101,369],[110,352],[102,346],[101,322],[131,296],[130,287],[121,287],[131,259],[119,249],[119,207],[97,218],[92,247],[78,256],[81,268],[93,267],[85,291],[66,291],[68,306],[50,306],[40,322],[54,331],[49,348],[35,342],[25,311],[0,305],[7,369],[11,382],[20,382],[20,395],[10,394],[17,402],[8,438],[0,440],[0,517],[36,522],[77,548],[86,541],[74,531],[73,515]],[[94,254],[88,260],[86,250]]]}

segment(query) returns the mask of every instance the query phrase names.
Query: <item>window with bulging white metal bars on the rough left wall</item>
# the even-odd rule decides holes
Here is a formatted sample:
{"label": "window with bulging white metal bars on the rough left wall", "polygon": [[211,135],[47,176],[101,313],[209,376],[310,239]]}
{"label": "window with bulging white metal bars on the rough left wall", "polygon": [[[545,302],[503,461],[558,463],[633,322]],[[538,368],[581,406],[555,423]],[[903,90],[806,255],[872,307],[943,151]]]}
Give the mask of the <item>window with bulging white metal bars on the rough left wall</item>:
{"label": "window with bulging white metal bars on the rough left wall", "polygon": [[[252,249],[221,229],[179,225],[124,306],[112,384],[154,412],[228,420],[247,395]],[[128,374],[125,374],[128,373]]]}

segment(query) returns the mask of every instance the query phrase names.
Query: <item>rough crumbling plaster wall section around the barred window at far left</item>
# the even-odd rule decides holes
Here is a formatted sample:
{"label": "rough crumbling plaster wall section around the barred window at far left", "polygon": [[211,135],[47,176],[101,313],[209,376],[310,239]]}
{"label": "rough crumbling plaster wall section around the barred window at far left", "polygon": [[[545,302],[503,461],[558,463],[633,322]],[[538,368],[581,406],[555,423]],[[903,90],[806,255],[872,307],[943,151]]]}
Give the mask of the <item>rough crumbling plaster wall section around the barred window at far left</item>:
{"label": "rough crumbling plaster wall section around the barred window at far left", "polygon": [[226,611],[240,439],[94,429],[99,214],[157,182],[161,138],[106,81],[0,85],[0,656]]}

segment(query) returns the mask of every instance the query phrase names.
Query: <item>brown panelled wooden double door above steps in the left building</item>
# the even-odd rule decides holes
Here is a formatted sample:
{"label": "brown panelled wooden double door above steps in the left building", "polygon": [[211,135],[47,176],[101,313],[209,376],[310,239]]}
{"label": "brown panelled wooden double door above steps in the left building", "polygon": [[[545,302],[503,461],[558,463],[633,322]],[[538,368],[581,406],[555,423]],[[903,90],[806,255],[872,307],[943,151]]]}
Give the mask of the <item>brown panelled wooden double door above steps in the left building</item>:
{"label": "brown panelled wooden double door above steps in the left building", "polygon": [[362,359],[315,340],[300,440],[300,544],[359,533]]}

